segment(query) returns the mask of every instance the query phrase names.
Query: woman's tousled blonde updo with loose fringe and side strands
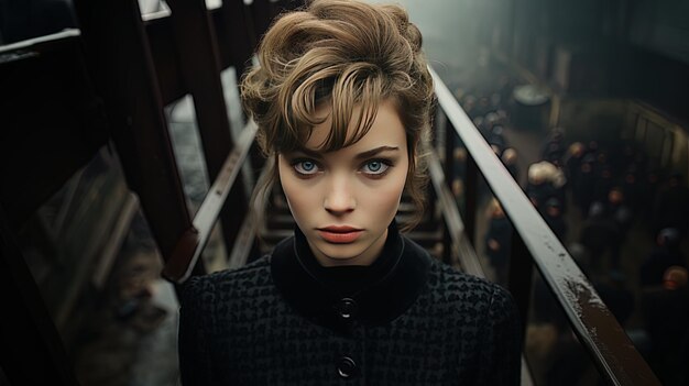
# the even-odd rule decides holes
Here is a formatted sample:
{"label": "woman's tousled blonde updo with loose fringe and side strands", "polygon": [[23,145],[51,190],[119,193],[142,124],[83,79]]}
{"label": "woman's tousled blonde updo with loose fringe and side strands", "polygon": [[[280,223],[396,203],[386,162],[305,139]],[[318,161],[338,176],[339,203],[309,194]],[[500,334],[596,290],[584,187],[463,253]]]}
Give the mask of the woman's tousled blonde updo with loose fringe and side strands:
{"label": "woman's tousled blonde updo with loose fringe and side strands", "polygon": [[318,107],[332,109],[332,126],[319,148],[331,152],[363,137],[380,103],[391,100],[407,140],[405,190],[418,209],[403,230],[420,220],[427,178],[423,143],[434,103],[420,46],[420,32],[397,5],[315,0],[275,21],[259,46],[259,65],[241,81],[242,102],[259,125],[256,140],[270,168],[254,190],[258,216],[278,179],[277,154],[298,150],[322,123],[315,114]]}

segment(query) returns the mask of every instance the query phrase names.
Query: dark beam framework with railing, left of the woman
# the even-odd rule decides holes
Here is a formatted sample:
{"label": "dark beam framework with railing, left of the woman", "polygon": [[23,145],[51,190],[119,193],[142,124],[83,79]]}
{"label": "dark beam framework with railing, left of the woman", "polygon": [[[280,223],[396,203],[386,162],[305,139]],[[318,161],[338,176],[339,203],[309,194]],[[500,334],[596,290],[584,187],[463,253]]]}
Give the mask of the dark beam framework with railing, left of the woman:
{"label": "dark beam framework with railing, left of the woman", "polygon": [[[136,0],[75,1],[79,30],[0,47],[8,98],[2,108],[13,110],[10,118],[25,111],[24,117],[51,119],[50,124],[4,122],[4,155],[22,155],[6,163],[12,174],[4,177],[13,184],[0,189],[0,283],[2,300],[12,309],[0,323],[0,333],[11,337],[0,354],[7,360],[3,378],[12,384],[78,384],[15,234],[101,146],[114,143],[172,282],[183,282],[192,269],[205,273],[198,254],[217,219],[227,245],[236,245],[241,234],[248,201],[238,165],[251,154],[255,128],[245,128],[237,141],[231,136],[220,71],[234,66],[242,73],[260,32],[251,13],[272,19],[278,3],[226,1],[212,10],[204,0],[168,3],[171,13],[142,18]],[[46,79],[47,91],[61,89],[58,97],[46,92]],[[204,156],[215,181],[194,218],[164,115],[165,104],[186,93],[197,101]],[[56,117],[42,110],[63,104],[67,112]]]}

